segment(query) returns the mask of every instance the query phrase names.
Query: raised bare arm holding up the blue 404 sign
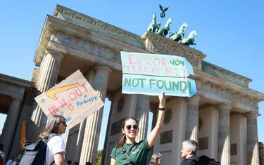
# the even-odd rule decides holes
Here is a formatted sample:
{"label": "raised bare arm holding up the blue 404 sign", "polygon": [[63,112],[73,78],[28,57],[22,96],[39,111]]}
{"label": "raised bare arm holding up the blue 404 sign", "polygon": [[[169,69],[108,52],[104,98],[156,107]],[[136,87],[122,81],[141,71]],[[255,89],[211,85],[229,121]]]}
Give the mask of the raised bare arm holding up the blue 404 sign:
{"label": "raised bare arm holding up the blue 404 sign", "polygon": [[149,147],[152,147],[158,138],[158,134],[161,133],[163,128],[163,120],[164,120],[164,108],[165,108],[165,95],[161,93],[158,95],[158,99],[160,100],[158,105],[158,119],[156,122],[156,126],[151,131],[151,134],[148,137]]}

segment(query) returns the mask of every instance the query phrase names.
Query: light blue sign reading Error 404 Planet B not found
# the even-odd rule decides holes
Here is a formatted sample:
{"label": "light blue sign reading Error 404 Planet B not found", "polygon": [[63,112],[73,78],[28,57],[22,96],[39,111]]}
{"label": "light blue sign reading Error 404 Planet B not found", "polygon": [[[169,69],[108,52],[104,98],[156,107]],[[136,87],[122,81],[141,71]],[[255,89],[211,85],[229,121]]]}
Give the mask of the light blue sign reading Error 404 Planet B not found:
{"label": "light blue sign reading Error 404 Planet B not found", "polygon": [[196,93],[186,58],[176,55],[121,52],[122,93],[190,97]]}

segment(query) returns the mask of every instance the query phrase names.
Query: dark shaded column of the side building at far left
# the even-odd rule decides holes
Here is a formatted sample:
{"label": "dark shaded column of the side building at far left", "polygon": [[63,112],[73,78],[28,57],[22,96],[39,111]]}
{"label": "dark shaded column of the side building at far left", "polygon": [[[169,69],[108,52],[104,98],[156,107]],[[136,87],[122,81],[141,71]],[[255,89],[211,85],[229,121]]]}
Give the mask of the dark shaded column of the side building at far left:
{"label": "dark shaded column of the side building at far left", "polygon": [[11,150],[12,138],[15,136],[15,129],[18,124],[18,117],[20,114],[20,104],[23,98],[12,98],[11,105],[8,108],[8,114],[6,122],[1,135],[0,143],[4,144],[4,152],[6,154],[6,160],[8,153]]}

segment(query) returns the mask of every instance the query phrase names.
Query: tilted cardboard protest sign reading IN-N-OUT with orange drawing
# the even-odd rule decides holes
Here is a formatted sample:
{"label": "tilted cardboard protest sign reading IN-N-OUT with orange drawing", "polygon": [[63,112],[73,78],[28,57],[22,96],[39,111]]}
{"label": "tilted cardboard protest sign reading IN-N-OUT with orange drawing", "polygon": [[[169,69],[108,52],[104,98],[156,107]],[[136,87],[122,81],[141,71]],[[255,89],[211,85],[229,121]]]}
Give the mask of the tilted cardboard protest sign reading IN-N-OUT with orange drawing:
{"label": "tilted cardboard protest sign reading IN-N-OUT with orange drawing", "polygon": [[103,107],[103,101],[80,70],[34,99],[47,117],[63,115],[67,129]]}

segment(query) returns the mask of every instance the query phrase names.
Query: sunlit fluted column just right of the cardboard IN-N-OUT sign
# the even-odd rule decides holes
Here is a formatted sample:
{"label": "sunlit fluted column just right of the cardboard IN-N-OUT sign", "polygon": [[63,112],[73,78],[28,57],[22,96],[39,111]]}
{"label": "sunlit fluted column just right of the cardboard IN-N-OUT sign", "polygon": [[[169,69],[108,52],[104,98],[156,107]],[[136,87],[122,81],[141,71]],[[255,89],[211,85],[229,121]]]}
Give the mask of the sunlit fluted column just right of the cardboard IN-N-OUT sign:
{"label": "sunlit fluted column just right of the cardboard IN-N-OUT sign", "polygon": [[[111,70],[108,67],[96,67],[95,75],[92,82],[92,87],[97,90],[101,100],[106,98],[106,90],[108,84],[108,76]],[[96,164],[97,147],[99,143],[99,135],[101,129],[101,121],[103,117],[103,107],[87,117],[87,122],[84,131],[82,142],[82,152],[80,156],[80,164],[85,164],[87,161]]]}

